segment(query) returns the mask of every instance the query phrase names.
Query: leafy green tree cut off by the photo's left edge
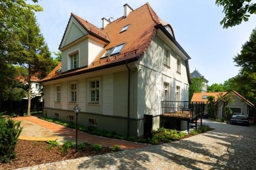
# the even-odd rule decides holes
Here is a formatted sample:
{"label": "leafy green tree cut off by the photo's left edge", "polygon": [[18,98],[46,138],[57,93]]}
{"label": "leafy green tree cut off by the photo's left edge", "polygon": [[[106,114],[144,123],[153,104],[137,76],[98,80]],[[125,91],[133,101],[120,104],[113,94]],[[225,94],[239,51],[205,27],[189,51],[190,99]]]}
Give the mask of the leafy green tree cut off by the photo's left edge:
{"label": "leafy green tree cut off by the photo's left edge", "polygon": [[[37,0],[31,2],[37,3]],[[41,10],[39,5],[26,4],[25,0],[0,2],[0,108],[1,101],[12,96],[16,83],[18,72],[14,64],[20,61],[18,52],[23,48],[18,37],[28,26],[24,14]]]}

